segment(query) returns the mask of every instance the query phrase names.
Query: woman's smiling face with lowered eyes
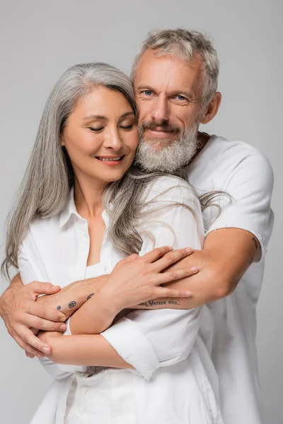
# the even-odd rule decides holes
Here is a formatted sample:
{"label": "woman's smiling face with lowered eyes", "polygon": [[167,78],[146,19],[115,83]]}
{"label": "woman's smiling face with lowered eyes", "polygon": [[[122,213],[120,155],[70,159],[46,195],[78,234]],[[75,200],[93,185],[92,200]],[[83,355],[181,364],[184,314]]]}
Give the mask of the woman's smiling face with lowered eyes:
{"label": "woman's smiling face with lowered eyes", "polygon": [[134,112],[122,93],[94,88],[77,102],[62,132],[76,178],[99,183],[125,174],[138,144]]}

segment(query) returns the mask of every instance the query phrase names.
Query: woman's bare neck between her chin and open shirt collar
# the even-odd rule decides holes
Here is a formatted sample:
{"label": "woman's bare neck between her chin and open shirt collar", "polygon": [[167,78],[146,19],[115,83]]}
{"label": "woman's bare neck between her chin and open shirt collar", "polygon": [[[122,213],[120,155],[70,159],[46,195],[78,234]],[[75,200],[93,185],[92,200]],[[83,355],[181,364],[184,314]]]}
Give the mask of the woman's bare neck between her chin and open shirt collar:
{"label": "woman's bare neck between her chin and open shirt collar", "polygon": [[108,187],[107,182],[93,179],[74,179],[74,202],[76,211],[82,218],[95,218],[103,211],[103,192]]}

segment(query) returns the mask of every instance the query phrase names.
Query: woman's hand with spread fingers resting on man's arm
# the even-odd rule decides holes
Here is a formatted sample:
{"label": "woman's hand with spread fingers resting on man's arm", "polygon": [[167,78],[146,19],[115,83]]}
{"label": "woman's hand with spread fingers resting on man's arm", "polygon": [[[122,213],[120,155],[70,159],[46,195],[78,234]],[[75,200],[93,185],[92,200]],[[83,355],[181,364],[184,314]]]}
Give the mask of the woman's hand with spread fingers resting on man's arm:
{"label": "woman's hand with spread fingers resting on man's arm", "polygon": [[166,271],[192,253],[192,249],[173,250],[172,247],[158,247],[139,257],[132,254],[119,261],[108,276],[108,281],[100,288],[103,302],[110,302],[115,314],[127,307],[156,298],[188,298],[192,293],[186,290],[161,287],[162,284],[185,278],[197,273],[197,269]]}

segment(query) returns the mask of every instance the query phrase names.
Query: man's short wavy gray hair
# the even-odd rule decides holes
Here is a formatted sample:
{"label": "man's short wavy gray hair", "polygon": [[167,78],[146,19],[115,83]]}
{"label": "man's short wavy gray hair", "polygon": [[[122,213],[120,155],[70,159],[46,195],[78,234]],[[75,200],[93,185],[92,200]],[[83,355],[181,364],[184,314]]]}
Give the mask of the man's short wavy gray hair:
{"label": "man's short wavy gray hair", "polygon": [[181,59],[191,63],[196,54],[202,57],[203,70],[203,107],[209,105],[217,90],[219,75],[219,60],[216,49],[212,42],[204,34],[198,31],[184,29],[156,30],[149,33],[141,45],[141,49],[134,59],[131,78],[134,76],[141,57],[147,50],[156,50],[156,56],[177,54]]}

